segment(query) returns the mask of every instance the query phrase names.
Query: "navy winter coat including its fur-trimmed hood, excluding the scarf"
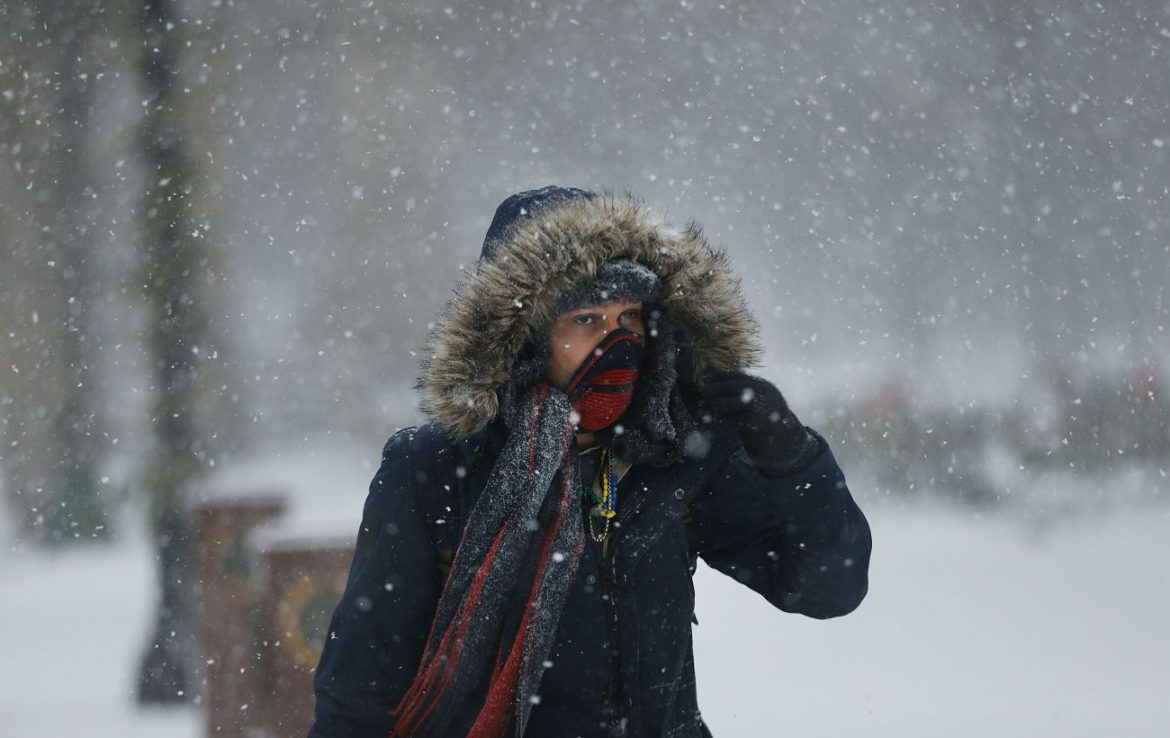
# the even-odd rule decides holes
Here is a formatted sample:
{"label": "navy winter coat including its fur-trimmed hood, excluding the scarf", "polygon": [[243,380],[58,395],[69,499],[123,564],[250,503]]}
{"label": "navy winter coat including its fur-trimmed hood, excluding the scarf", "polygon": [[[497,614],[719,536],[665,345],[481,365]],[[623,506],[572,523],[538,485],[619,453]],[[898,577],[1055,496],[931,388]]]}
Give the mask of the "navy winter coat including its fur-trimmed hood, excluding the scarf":
{"label": "navy winter coat including its fur-trimmed hood, excluding the scarf", "polygon": [[[669,228],[627,198],[597,198],[502,230],[494,261],[432,333],[420,389],[434,420],[394,434],[383,451],[315,678],[311,738],[390,733],[461,531],[507,440],[498,389],[557,295],[600,262],[633,258],[662,278],[660,306],[681,326],[696,377],[758,354],[738,283],[697,228]],[[673,359],[666,365],[674,371]],[[667,407],[672,398],[654,393],[674,378],[652,372],[639,407]],[[819,454],[778,478],[718,429],[701,453],[629,469],[606,545],[584,549],[525,736],[709,736],[690,630],[698,558],[790,613],[832,618],[860,603],[869,527],[828,444],[808,430]]]}

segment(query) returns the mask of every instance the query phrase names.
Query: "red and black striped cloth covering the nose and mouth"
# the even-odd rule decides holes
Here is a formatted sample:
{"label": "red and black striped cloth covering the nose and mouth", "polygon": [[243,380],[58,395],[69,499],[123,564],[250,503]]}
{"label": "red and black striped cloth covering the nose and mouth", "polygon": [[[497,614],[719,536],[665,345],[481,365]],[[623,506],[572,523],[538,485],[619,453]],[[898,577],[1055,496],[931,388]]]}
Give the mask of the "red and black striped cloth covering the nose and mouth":
{"label": "red and black striped cloth covering the nose and mouth", "polygon": [[621,418],[634,399],[634,385],[646,340],[619,327],[611,331],[573,372],[565,393],[580,415],[583,430],[608,428]]}

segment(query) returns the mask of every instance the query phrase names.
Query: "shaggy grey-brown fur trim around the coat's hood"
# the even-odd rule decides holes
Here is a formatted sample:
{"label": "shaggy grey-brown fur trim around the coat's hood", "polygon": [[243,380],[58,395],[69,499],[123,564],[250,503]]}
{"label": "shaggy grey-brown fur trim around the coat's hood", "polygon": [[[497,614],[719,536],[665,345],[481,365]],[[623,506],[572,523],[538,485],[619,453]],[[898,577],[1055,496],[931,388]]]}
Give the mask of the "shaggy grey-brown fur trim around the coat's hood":
{"label": "shaggy grey-brown fur trim around the coat's hood", "polygon": [[727,256],[696,225],[674,228],[631,195],[550,202],[493,246],[441,310],[417,382],[424,412],[454,439],[495,420],[500,388],[524,345],[552,324],[557,297],[607,261],[636,261],[662,280],[659,304],[690,344],[696,377],[758,360],[756,322]]}

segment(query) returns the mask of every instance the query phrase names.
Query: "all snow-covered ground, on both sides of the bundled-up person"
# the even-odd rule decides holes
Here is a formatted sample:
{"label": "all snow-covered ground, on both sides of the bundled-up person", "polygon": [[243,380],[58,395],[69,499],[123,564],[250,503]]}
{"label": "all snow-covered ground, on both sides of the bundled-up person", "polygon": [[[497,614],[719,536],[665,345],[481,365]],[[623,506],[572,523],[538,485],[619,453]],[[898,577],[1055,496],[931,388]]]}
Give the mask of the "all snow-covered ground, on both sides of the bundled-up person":
{"label": "all snow-covered ground, on both sides of the bundled-up person", "polygon": [[[1170,509],[1041,531],[955,510],[870,509],[870,594],[852,615],[771,609],[702,570],[700,702],[717,736],[1164,736]],[[0,552],[0,738],[201,734],[137,710],[153,582],[140,538]]]}

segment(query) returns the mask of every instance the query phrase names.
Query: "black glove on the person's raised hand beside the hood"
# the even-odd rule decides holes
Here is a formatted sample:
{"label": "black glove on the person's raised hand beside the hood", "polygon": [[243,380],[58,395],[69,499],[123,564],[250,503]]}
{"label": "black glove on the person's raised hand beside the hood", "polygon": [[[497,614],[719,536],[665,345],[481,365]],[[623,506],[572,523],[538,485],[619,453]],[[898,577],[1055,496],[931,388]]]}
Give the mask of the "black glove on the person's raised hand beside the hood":
{"label": "black glove on the person's raised hand beside the hood", "polygon": [[820,444],[770,381],[742,372],[710,372],[698,387],[717,423],[732,430],[765,473],[783,476],[812,461]]}

